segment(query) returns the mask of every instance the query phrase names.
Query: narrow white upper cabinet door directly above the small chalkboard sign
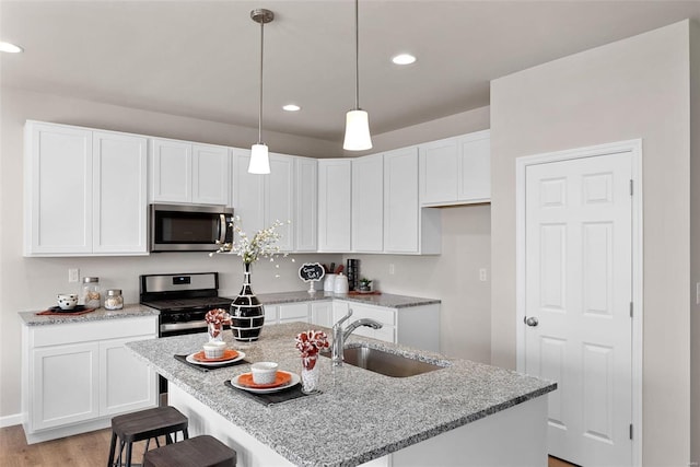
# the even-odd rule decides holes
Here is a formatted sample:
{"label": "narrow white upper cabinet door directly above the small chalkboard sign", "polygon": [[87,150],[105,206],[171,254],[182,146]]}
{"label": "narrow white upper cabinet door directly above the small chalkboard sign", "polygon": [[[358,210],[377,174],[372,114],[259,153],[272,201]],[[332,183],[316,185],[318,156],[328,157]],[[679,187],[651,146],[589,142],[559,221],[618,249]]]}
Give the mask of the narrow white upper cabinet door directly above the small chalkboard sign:
{"label": "narrow white upper cabinet door directly above the small chalkboard sign", "polygon": [[292,224],[294,249],[316,252],[318,248],[318,161],[296,157],[294,164],[296,170],[294,180],[296,197]]}

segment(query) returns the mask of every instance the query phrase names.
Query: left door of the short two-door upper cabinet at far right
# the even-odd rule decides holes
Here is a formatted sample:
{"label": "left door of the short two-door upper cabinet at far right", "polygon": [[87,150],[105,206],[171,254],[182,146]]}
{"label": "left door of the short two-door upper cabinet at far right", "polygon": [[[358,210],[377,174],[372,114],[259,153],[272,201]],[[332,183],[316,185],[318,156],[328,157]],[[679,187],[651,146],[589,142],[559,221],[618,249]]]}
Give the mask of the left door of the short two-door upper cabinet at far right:
{"label": "left door of the short two-door upper cabinet at far right", "polygon": [[458,199],[458,147],[456,138],[420,145],[422,205],[456,202]]}

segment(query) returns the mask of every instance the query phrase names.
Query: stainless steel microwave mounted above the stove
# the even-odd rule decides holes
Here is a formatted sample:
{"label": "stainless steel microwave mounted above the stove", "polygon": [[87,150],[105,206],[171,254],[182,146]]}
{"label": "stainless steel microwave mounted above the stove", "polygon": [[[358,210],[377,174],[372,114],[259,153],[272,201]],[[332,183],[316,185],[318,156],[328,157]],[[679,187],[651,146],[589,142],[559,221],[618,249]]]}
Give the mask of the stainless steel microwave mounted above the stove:
{"label": "stainless steel microwave mounted above the stove", "polygon": [[233,209],[203,205],[151,205],[151,252],[214,252],[233,241]]}

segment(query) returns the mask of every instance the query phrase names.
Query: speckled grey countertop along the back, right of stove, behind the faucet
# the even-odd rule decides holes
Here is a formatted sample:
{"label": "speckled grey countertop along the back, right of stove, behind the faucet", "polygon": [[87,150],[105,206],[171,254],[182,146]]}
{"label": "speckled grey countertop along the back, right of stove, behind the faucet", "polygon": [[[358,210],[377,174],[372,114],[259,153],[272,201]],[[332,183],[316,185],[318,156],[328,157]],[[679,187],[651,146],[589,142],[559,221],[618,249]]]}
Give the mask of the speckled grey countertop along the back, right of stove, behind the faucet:
{"label": "speckled grey countertop along the back, right of stove, behind the faucet", "polygon": [[279,292],[262,293],[257,295],[264,305],[277,305],[293,302],[314,302],[322,300],[347,300],[350,302],[364,303],[365,305],[386,306],[388,308],[407,308],[409,306],[421,306],[440,303],[436,299],[421,299],[419,296],[393,295],[390,293],[371,294],[340,294],[318,291],[316,293],[301,292]]}

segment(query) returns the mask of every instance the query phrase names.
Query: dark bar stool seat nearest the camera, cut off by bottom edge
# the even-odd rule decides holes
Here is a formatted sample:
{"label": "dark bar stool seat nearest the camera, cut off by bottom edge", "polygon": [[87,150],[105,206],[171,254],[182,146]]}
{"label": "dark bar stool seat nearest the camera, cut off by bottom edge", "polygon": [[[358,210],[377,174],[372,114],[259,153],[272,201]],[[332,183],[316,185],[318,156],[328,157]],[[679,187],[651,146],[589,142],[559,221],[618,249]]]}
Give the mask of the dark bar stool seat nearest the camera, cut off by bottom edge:
{"label": "dark bar stool seat nearest the camera, cut off by bottom edge", "polygon": [[143,467],[234,467],[236,452],[215,437],[203,434],[151,450]]}

